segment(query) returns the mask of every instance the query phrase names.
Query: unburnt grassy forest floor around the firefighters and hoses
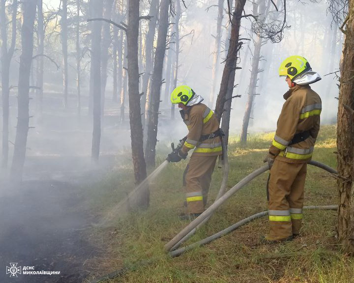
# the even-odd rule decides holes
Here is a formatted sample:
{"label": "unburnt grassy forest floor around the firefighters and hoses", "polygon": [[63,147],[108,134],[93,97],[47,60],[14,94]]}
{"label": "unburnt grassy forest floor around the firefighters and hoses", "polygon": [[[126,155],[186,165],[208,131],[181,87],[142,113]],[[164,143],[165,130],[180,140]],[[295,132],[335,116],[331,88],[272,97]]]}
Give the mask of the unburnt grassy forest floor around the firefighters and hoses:
{"label": "unburnt grassy forest floor around the firefighters and hoses", "polygon": [[[251,135],[246,147],[238,144],[237,137],[231,138],[229,188],[264,165],[262,160],[273,136],[274,133]],[[158,164],[168,153],[167,148],[164,150],[164,155],[157,157]],[[313,160],[336,168],[335,150],[336,127],[321,127]],[[170,164],[150,184],[148,210],[117,216],[110,226],[91,230],[92,244],[106,249],[106,253],[86,262],[92,275],[88,280],[152,257],[154,261],[151,264],[136,267],[107,282],[353,282],[354,261],[340,253],[335,238],[335,211],[305,211],[300,236],[292,242],[259,244],[259,237],[267,232],[268,222],[264,217],[176,258],[166,255],[164,244],[187,225],[178,219],[184,200],[181,179],[186,163]],[[267,177],[268,174],[264,173],[237,192],[188,243],[265,211]],[[208,205],[216,197],[221,178],[222,170],[215,169]],[[98,187],[93,186],[90,205],[98,217],[104,216],[117,204],[134,187],[133,184],[132,170],[119,167],[108,174]],[[305,191],[304,205],[338,203],[336,179],[313,166],[308,166]]]}

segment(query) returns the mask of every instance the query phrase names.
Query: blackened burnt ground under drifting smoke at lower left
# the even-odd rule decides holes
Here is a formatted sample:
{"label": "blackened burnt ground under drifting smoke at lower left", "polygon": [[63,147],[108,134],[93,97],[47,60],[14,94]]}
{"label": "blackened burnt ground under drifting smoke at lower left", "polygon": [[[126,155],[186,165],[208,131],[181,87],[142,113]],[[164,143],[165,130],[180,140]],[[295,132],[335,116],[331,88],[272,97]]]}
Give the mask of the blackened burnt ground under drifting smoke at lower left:
{"label": "blackened burnt ground under drifting smoke at lower left", "polygon": [[[63,171],[73,161],[29,159],[28,166],[37,164],[37,175],[30,174],[36,179],[16,186],[0,183],[0,283],[81,283],[89,275],[84,263],[100,248],[89,244],[87,237],[94,219],[85,204],[85,187],[99,179],[100,172],[70,175],[72,170]],[[52,174],[50,164],[57,167],[50,170]],[[60,271],[60,275],[10,278],[5,271],[12,262],[18,267],[34,266],[35,271]]]}

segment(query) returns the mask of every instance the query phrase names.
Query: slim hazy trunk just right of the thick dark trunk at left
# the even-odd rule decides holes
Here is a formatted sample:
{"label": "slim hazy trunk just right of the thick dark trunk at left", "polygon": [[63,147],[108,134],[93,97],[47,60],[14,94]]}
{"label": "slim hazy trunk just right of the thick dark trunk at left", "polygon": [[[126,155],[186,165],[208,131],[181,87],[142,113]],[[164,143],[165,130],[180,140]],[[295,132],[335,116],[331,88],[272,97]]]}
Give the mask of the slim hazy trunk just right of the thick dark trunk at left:
{"label": "slim hazy trunk just right of the thick dark trunk at left", "polygon": [[36,89],[36,97],[37,97],[37,110],[39,120],[42,118],[43,112],[43,65],[44,65],[44,20],[43,20],[43,6],[42,0],[37,0],[37,15],[38,15],[38,55],[37,58],[38,68],[37,68],[37,89]]}

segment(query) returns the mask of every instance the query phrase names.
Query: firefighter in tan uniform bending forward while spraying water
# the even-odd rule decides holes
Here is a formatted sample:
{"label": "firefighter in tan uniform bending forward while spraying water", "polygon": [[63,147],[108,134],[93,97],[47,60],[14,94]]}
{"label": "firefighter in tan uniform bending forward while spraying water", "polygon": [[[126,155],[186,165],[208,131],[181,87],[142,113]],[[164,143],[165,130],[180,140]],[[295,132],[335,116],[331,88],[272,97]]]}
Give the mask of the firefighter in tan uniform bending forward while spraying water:
{"label": "firefighter in tan uniform bending forward while spraying water", "polygon": [[195,218],[204,211],[211,174],[217,157],[222,154],[219,122],[202,101],[203,97],[187,85],[177,86],[171,93],[171,102],[178,103],[182,109],[180,114],[189,132],[182,140],[183,146],[170,153],[167,160],[178,162],[187,157],[189,150],[194,149],[183,174],[187,214],[182,215],[182,219]]}

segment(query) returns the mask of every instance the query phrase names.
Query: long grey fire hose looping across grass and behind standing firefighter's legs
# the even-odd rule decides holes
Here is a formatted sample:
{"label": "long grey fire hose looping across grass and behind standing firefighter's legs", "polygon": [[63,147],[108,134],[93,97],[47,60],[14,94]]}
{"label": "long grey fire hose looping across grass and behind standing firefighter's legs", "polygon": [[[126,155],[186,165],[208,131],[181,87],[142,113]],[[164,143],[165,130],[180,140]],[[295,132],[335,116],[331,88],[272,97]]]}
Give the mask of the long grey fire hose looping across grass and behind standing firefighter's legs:
{"label": "long grey fire hose looping across grass and behind standing firefighter's legs", "polygon": [[[323,163],[320,163],[320,162],[317,162],[317,161],[310,161],[308,164],[311,164],[313,166],[316,166],[316,167],[319,167],[321,169],[324,169],[332,174],[336,174],[337,175],[337,171],[330,168],[329,166],[323,164]],[[219,199],[215,200],[215,202],[204,212],[202,213],[199,217],[197,217],[194,221],[192,221],[188,226],[186,226],[184,229],[182,229],[181,232],[179,232],[177,234],[177,236],[175,236],[175,240],[172,239],[167,245],[165,245],[165,249],[166,247],[176,247],[177,244],[181,244],[183,241],[181,241],[182,239],[186,239],[186,235],[188,235],[188,233],[190,233],[191,231],[193,231],[194,229],[194,232],[197,228],[197,226],[200,226],[201,223],[205,223],[207,221],[207,219],[215,212],[215,210],[222,204],[224,203],[228,198],[230,198],[234,193],[236,193],[240,188],[242,188],[244,185],[246,185],[248,182],[250,182],[251,180],[253,180],[255,177],[257,177],[258,175],[260,175],[261,173],[265,172],[268,170],[268,166],[265,165],[255,171],[253,171],[251,174],[249,174],[248,176],[246,176],[245,178],[243,178],[241,181],[239,181],[233,188],[231,188],[227,193],[225,193],[222,197],[220,197]],[[334,209],[337,209],[338,208],[338,205],[324,205],[324,206],[304,206],[303,207],[304,209],[325,209],[325,210],[334,210]],[[177,250],[174,250],[174,251],[169,251],[169,255],[171,257],[176,257],[178,255],[181,255],[182,253],[186,252],[186,251],[189,251],[193,248],[196,248],[196,247],[200,247],[202,245],[205,245],[207,243],[210,243],[212,242],[213,240],[215,239],[218,239],[220,238],[221,236],[225,235],[225,234],[228,234],[234,230],[236,230],[238,227],[242,226],[242,225],[245,225],[249,222],[251,222],[252,220],[255,220],[257,218],[260,218],[262,216],[265,216],[268,214],[268,211],[263,211],[263,212],[259,212],[259,213],[256,213],[254,215],[251,215],[237,223],[235,223],[234,225],[220,231],[220,232],[217,232],[201,241],[198,241],[196,243],[193,243],[193,244],[190,244],[186,247],[183,247],[183,248],[180,248],[180,249],[177,249]],[[193,233],[194,233],[193,232]],[[192,234],[192,233],[191,233]],[[177,239],[177,240],[176,240]],[[173,245],[171,244],[174,243]],[[157,258],[148,258],[148,259],[145,259],[145,260],[142,260],[142,261],[139,261],[133,265],[130,265],[130,266],[127,266],[127,267],[124,267],[124,268],[121,268],[117,271],[114,271],[110,274],[107,274],[99,279],[94,279],[92,281],[90,281],[89,283],[101,283],[101,282],[104,282],[106,280],[109,280],[109,279],[114,279],[114,278],[117,278],[121,275],[123,275],[124,273],[130,271],[130,270],[134,270],[138,267],[141,267],[141,266],[145,266],[145,265],[148,265],[150,263],[152,263],[153,261],[155,261]]]}

